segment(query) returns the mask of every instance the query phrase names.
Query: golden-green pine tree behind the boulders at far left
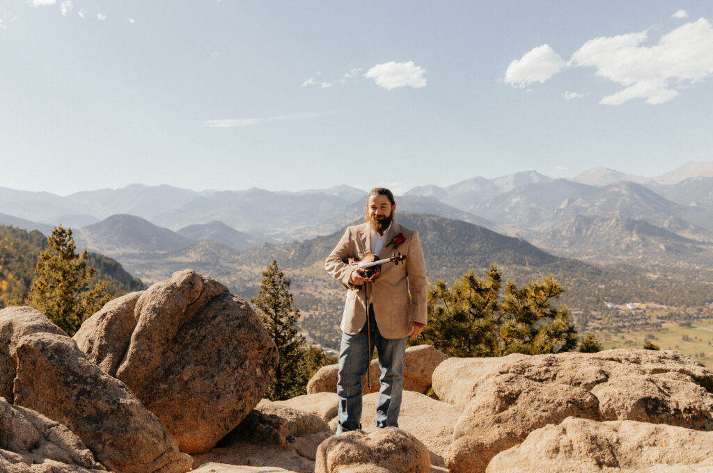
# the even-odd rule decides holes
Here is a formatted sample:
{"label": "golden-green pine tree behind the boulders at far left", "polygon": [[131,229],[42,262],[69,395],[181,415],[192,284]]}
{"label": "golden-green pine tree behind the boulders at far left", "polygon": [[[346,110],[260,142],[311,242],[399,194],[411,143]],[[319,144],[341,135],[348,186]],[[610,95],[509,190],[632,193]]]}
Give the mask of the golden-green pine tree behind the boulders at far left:
{"label": "golden-green pine tree behind the boulders at far left", "polygon": [[46,249],[37,257],[28,296],[31,306],[69,336],[111,299],[104,293],[106,282],[96,281],[90,287],[96,271],[87,264],[86,249],[81,254],[75,251],[72,229],[54,228]]}

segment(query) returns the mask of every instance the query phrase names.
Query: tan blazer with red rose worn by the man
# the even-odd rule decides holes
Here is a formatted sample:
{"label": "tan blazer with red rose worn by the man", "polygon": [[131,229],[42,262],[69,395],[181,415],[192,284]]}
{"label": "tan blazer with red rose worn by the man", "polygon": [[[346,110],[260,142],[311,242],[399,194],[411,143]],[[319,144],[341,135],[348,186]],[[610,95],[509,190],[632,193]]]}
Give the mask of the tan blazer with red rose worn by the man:
{"label": "tan blazer with red rose worn by the man", "polygon": [[[399,233],[406,241],[396,246],[389,245]],[[386,236],[384,249],[379,259],[388,258],[392,253],[401,251],[406,255],[406,261],[399,264],[388,263],[381,266],[381,276],[372,283],[353,286],[349,276],[354,266],[345,264],[344,258],[359,258],[371,253],[371,229],[369,223],[347,228],[344,237],[339,240],[332,253],[327,256],[324,269],[342,281],[347,289],[347,300],[344,302],[342,314],[342,331],[356,335],[366,323],[366,294],[364,286],[369,285],[371,301],[374,303],[374,316],[379,333],[384,338],[404,338],[409,336],[409,322],[426,323],[428,321],[428,306],[426,303],[426,263],[421,249],[419,232],[409,230],[396,223],[391,223],[391,229]],[[409,298],[409,293],[411,297]]]}

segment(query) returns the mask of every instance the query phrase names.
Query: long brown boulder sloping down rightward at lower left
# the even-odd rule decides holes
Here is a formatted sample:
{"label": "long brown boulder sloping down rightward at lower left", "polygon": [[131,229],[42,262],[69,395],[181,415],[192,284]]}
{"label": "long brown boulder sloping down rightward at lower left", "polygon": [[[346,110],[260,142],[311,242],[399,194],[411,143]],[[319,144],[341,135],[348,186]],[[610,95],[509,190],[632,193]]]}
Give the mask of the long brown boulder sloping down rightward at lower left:
{"label": "long brown boulder sloping down rightward at lower left", "polygon": [[192,459],[119,380],[97,368],[66,335],[17,341],[15,404],[69,427],[105,467],[120,473],[183,473]]}

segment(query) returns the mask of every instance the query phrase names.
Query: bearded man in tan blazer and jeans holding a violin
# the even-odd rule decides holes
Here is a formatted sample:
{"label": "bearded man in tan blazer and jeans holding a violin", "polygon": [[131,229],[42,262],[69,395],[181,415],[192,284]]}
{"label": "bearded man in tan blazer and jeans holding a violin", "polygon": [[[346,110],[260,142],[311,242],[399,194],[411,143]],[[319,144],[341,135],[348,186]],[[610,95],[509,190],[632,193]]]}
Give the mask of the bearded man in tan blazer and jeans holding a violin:
{"label": "bearded man in tan blazer and jeans holding a violin", "polygon": [[[389,189],[372,189],[366,199],[366,223],[347,228],[324,264],[327,272],[349,289],[341,325],[337,434],[361,429],[361,378],[374,345],[381,368],[376,427],[399,427],[406,340],[418,336],[426,325],[426,264],[421,241],[418,232],[396,223],[395,211],[394,194]],[[374,281],[366,277],[366,271],[345,262],[366,254],[385,259],[397,251],[406,255],[406,261],[384,264]]]}

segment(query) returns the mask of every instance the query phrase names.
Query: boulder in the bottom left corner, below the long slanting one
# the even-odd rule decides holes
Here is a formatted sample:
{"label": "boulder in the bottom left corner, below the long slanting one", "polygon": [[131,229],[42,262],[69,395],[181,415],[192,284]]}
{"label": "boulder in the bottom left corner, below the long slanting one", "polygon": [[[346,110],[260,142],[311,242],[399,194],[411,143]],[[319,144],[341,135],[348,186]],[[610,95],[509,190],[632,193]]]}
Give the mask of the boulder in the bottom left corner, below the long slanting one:
{"label": "boulder in the bottom left corner, below the long slanting one", "polygon": [[0,471],[106,472],[67,427],[0,397]]}

